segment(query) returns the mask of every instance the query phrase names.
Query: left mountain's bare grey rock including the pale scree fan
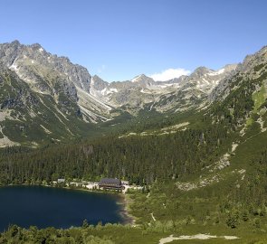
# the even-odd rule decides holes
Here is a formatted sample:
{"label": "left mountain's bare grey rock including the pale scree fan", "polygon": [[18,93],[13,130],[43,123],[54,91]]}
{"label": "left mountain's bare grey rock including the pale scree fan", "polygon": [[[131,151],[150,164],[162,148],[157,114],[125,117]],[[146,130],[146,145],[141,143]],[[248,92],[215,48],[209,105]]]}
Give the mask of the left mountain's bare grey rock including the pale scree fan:
{"label": "left mountain's bare grey rock including the pale scree fan", "polygon": [[110,107],[90,94],[91,74],[68,58],[52,55],[40,44],[27,46],[14,41],[0,44],[0,62],[32,91],[51,96],[57,104],[64,105],[65,99],[77,103],[84,120],[96,122],[109,117]]}

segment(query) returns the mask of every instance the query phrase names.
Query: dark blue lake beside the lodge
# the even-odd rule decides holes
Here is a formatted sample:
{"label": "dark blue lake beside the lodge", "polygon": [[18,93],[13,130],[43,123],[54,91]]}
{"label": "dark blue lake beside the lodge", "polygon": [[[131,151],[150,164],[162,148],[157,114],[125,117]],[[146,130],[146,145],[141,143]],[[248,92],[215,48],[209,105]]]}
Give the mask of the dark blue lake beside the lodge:
{"label": "dark blue lake beside the lodge", "polygon": [[42,186],[0,187],[0,231],[9,224],[28,228],[123,223],[123,204],[115,194],[83,192]]}

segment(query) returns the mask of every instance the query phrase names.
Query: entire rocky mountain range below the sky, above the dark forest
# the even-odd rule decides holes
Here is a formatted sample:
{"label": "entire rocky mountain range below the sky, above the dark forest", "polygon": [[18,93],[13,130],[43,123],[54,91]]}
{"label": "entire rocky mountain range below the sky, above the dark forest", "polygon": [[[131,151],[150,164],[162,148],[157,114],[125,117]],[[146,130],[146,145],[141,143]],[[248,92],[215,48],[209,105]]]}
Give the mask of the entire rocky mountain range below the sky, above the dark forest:
{"label": "entire rocky mountain range below the sky, above the dark forest", "polygon": [[[86,136],[102,125],[114,127],[119,117],[207,109],[223,101],[244,80],[261,77],[266,63],[267,47],[263,47],[242,63],[220,70],[199,67],[173,80],[155,81],[141,74],[109,83],[66,57],[46,52],[38,43],[3,43],[0,145],[59,143]],[[254,91],[259,89],[261,86]]]}

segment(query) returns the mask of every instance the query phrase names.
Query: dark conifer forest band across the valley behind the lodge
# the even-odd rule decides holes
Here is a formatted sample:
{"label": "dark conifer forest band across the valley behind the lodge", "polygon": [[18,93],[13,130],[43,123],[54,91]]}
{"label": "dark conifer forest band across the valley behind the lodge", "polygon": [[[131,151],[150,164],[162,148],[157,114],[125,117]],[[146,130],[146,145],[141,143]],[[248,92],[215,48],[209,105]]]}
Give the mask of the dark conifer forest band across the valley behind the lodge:
{"label": "dark conifer forest band across the valley behind the lodge", "polygon": [[0,181],[51,182],[59,177],[97,180],[119,177],[151,184],[198,172],[216,158],[227,128],[188,129],[164,136],[104,137],[91,144],[48,145],[42,149],[6,148]]}

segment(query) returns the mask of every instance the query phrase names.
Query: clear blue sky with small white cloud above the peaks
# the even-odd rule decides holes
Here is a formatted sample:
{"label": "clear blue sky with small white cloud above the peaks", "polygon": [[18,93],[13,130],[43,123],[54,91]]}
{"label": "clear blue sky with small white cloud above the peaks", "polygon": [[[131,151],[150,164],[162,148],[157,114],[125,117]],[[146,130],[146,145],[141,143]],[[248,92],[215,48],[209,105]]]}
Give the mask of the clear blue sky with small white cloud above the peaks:
{"label": "clear blue sky with small white cloud above the peaks", "polygon": [[103,80],[218,70],[267,45],[266,0],[1,0],[0,43],[40,43]]}

